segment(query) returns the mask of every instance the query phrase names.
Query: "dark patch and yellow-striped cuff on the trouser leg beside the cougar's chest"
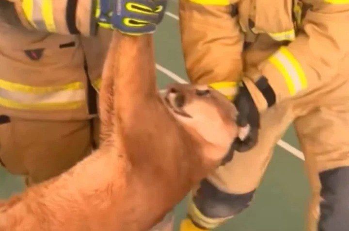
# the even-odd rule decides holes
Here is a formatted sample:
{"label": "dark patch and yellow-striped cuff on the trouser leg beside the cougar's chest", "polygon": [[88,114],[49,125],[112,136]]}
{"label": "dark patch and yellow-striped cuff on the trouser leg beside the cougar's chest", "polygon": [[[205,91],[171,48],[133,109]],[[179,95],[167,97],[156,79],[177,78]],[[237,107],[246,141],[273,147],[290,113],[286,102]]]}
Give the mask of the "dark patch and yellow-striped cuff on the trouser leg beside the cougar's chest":
{"label": "dark patch and yellow-striped cuff on the trouser leg beside the cougar's chest", "polygon": [[225,193],[205,179],[190,203],[190,219],[202,229],[214,229],[246,209],[254,192],[255,190],[245,194]]}

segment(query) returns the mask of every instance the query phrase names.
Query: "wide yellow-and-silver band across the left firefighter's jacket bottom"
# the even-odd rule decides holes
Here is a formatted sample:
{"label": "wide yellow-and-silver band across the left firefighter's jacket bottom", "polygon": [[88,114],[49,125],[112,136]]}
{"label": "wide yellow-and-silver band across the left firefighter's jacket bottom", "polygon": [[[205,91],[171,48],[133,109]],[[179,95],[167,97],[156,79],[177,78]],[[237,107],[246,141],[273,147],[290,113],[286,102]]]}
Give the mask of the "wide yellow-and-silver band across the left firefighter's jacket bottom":
{"label": "wide yellow-and-silver band across the left firefighter's jacket bottom", "polygon": [[85,89],[81,82],[54,87],[32,87],[0,80],[0,105],[15,109],[60,110],[82,106]]}

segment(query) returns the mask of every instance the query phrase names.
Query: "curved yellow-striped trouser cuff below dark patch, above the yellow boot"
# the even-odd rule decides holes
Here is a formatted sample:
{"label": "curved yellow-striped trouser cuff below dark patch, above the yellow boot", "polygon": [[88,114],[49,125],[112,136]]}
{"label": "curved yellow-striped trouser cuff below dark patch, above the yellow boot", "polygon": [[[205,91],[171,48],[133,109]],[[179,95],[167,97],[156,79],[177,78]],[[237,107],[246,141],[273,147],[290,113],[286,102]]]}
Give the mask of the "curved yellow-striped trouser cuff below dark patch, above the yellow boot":
{"label": "curved yellow-striped trouser cuff below dark patch, above the yellow boot", "polygon": [[200,226],[206,229],[213,230],[222,224],[225,220],[232,218],[233,216],[224,218],[209,218],[200,212],[200,210],[195,206],[192,200],[190,200],[189,210],[190,218]]}

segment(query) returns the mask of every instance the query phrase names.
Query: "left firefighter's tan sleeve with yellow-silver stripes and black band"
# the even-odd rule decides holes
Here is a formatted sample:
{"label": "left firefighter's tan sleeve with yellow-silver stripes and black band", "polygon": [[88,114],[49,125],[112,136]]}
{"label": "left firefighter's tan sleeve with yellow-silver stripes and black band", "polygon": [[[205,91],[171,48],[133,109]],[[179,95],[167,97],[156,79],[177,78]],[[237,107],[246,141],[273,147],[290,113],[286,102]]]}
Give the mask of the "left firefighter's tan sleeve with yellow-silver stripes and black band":
{"label": "left firefighter's tan sleeve with yellow-silver stripes and black band", "polygon": [[60,34],[96,33],[96,0],[8,0],[15,3],[22,24]]}

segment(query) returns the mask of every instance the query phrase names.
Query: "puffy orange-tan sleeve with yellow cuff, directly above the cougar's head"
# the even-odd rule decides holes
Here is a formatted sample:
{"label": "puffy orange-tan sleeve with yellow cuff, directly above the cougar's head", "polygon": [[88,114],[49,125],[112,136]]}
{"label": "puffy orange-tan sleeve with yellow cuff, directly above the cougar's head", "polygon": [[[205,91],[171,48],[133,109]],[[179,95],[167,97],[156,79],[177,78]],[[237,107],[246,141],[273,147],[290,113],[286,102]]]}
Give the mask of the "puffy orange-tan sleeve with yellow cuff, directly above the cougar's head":
{"label": "puffy orange-tan sleeve with yellow cuff, directly above the cougar's head", "polygon": [[[238,1],[238,0],[236,0]],[[182,50],[190,82],[211,84],[228,98],[242,71],[243,37],[229,0],[180,0]]]}

